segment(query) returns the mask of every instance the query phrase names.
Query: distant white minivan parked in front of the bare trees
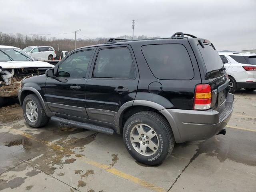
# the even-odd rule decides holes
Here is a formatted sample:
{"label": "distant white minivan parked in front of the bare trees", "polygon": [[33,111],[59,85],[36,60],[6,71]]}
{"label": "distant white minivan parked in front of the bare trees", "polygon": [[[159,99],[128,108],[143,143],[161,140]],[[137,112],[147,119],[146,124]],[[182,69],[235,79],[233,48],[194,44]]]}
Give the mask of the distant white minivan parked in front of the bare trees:
{"label": "distant white minivan parked in front of the bare trees", "polygon": [[56,52],[53,47],[49,46],[31,46],[23,49],[28,55],[35,60],[52,60],[56,58]]}

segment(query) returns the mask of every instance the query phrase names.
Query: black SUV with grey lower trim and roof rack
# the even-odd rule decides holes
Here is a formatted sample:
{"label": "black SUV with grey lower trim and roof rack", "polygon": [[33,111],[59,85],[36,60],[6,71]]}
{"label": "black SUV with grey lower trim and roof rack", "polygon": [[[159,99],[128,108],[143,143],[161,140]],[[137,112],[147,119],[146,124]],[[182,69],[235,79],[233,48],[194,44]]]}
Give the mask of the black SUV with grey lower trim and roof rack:
{"label": "black SUV with grey lower trim and roof rack", "polygon": [[23,80],[19,100],[32,127],[51,119],[116,132],[136,160],[154,165],[175,142],[225,134],[234,95],[214,45],[178,32],[73,50],[46,75]]}

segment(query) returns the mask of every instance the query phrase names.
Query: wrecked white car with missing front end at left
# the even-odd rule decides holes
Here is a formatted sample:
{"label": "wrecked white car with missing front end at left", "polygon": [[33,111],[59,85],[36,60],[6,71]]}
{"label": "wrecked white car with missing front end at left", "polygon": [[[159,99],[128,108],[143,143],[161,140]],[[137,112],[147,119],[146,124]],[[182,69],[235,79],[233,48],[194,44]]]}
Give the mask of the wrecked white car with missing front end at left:
{"label": "wrecked white car with missing front end at left", "polygon": [[23,79],[45,74],[53,67],[47,62],[35,61],[20,48],[0,45],[0,106],[5,98],[18,96]]}

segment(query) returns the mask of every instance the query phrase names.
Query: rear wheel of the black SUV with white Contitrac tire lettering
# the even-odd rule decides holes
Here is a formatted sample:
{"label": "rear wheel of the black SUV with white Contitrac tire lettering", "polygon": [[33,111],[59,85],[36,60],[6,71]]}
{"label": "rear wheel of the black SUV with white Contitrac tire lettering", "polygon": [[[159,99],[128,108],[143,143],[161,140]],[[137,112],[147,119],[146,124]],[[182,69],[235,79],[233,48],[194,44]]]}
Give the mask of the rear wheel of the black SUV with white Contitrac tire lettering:
{"label": "rear wheel of the black SUV with white Contitrac tire lettering", "polygon": [[[145,134],[141,134],[143,131]],[[150,135],[154,137],[147,138]],[[175,143],[169,123],[161,115],[151,111],[132,115],[124,124],[123,139],[131,156],[148,165],[162,163],[171,154]],[[157,148],[153,147],[154,150],[151,150],[149,146]]]}

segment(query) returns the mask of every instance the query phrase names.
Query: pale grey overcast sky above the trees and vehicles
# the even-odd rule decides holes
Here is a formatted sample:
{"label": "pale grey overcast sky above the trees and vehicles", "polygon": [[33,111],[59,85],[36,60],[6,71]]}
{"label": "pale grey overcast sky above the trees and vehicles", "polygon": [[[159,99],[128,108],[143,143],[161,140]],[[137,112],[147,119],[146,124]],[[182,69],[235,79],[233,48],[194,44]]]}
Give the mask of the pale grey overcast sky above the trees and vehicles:
{"label": "pale grey overcast sky above the trees and vehicles", "polygon": [[[0,0],[0,32],[170,37],[186,32],[217,50],[256,49],[256,0]],[[46,37],[74,38],[73,34]],[[78,38],[86,37],[78,34]]]}

